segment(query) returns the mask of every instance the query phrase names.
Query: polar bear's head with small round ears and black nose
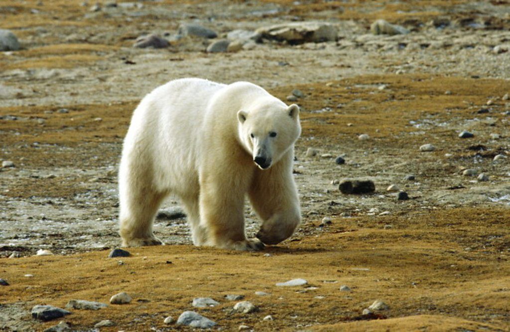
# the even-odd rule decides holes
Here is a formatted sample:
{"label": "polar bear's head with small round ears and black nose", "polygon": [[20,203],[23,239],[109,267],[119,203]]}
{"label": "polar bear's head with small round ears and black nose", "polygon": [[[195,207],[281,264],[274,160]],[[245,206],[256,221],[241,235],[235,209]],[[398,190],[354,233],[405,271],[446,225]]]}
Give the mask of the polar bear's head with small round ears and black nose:
{"label": "polar bear's head with small round ears and black nose", "polygon": [[239,110],[237,119],[239,139],[262,170],[277,162],[301,134],[299,107],[276,98]]}

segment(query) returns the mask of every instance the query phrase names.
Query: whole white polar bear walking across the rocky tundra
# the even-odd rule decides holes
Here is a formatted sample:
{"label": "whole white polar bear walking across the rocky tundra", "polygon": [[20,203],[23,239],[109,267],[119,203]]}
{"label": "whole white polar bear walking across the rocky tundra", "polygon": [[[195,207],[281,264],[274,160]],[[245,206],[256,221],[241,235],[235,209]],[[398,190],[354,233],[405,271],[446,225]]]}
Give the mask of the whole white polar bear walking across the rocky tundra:
{"label": "whole white polar bear walking across the rocky tundra", "polygon": [[[168,82],[142,99],[124,139],[119,170],[122,246],[162,244],[152,233],[170,193],[187,212],[195,245],[261,250],[300,223],[292,175],[299,107],[249,82]],[[263,220],[244,229],[248,196]]]}

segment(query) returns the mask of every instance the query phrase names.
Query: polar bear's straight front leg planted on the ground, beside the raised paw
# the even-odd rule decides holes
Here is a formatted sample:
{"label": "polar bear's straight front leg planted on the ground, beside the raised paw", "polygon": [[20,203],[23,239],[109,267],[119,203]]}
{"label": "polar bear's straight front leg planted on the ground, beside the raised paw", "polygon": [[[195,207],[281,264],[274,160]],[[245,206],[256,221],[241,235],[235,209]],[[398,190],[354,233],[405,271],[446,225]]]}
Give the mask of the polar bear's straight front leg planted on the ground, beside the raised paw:
{"label": "polar bear's straight front leg planted on the ground, beside the raised paw", "polygon": [[262,250],[264,244],[259,239],[247,239],[244,231],[242,179],[236,181],[235,176],[201,178],[200,224],[208,232],[206,244],[231,250]]}

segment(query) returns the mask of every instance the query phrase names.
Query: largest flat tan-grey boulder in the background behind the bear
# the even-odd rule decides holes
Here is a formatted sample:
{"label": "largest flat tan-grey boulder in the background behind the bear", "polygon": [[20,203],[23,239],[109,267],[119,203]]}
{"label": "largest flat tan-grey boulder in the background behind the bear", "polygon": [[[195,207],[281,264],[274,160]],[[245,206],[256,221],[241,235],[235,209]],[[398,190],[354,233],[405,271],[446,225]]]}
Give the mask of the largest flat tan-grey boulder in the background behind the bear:
{"label": "largest flat tan-grey boulder in the background behind the bear", "polygon": [[286,41],[289,44],[336,41],[338,29],[325,22],[291,22],[261,27],[257,30],[264,38]]}

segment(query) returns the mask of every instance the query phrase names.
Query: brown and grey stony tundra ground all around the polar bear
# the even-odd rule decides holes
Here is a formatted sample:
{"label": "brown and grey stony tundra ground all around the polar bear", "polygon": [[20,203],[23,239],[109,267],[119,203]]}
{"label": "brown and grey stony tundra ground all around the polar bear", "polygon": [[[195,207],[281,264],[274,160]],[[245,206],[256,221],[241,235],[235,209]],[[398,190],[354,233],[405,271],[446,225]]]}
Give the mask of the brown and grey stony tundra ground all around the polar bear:
{"label": "brown and grey stony tundra ground all around the polar bear", "polygon": [[[394,26],[374,32],[409,33],[375,35],[377,19]],[[310,22],[327,31],[259,30]],[[0,52],[0,330],[187,329],[164,322],[185,311],[228,330],[508,330],[509,28],[504,1],[0,0],[0,29],[20,47]],[[131,113],[188,76],[249,80],[301,106],[303,224],[262,253],[233,253],[193,247],[185,218],[161,217],[169,245],[108,258]],[[375,192],[344,195],[344,179]],[[249,206],[246,218],[253,234]],[[131,302],[110,304],[119,292]],[[195,308],[198,297],[218,304]],[[72,299],[108,307],[31,318]],[[377,299],[388,308],[364,313]],[[114,325],[94,327],[103,320]]]}

